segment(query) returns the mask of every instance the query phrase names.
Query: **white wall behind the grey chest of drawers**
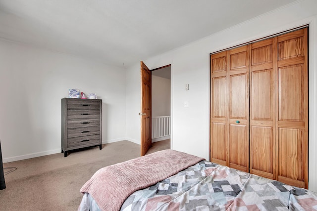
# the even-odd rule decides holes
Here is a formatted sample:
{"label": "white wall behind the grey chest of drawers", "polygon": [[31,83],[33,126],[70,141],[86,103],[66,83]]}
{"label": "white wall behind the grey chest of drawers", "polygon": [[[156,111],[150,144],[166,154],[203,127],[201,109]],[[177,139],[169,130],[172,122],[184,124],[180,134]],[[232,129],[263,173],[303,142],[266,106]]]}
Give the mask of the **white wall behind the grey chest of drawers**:
{"label": "white wall behind the grey chest of drawers", "polygon": [[61,152],[61,98],[69,88],[103,100],[103,143],[125,139],[125,71],[0,40],[3,162]]}

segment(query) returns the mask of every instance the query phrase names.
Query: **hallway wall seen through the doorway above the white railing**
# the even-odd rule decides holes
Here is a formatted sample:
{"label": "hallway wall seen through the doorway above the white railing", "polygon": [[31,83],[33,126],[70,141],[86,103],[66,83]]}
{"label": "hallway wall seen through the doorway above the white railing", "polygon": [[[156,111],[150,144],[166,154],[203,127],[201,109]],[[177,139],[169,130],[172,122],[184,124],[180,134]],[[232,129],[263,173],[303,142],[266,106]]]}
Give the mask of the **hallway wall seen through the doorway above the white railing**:
{"label": "hallway wall seen through the doorway above the white railing", "polygon": [[170,116],[170,79],[152,75],[152,117],[159,116]]}

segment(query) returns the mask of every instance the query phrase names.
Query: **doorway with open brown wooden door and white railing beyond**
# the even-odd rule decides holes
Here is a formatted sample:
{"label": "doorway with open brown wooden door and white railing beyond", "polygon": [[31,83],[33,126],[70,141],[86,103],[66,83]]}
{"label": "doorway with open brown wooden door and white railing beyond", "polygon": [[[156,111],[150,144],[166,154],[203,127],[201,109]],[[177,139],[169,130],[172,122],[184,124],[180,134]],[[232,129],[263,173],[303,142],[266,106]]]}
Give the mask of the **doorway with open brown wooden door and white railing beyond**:
{"label": "doorway with open brown wooden door and white railing beyond", "polygon": [[[146,77],[147,74],[150,76]],[[146,91],[146,87],[149,87],[150,92]],[[171,65],[149,71],[141,61],[141,113],[139,113],[142,116],[141,156],[158,150],[170,149],[170,104]],[[147,119],[145,118],[148,113],[146,107],[149,107],[150,118],[148,119],[150,121],[143,121]],[[149,124],[146,124],[147,122]]]}

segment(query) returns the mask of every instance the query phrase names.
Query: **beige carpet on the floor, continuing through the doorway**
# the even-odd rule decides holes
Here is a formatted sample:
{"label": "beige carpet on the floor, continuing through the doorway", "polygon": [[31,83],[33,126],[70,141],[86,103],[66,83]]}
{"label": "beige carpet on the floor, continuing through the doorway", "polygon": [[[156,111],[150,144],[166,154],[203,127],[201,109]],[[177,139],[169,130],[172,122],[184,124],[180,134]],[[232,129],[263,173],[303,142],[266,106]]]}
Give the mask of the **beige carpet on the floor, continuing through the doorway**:
{"label": "beige carpet on the floor, continuing through the doorway", "polygon": [[[148,153],[170,148],[155,142]],[[6,189],[0,190],[0,211],[76,211],[83,184],[100,168],[140,156],[140,145],[119,141],[99,147],[3,164]]]}

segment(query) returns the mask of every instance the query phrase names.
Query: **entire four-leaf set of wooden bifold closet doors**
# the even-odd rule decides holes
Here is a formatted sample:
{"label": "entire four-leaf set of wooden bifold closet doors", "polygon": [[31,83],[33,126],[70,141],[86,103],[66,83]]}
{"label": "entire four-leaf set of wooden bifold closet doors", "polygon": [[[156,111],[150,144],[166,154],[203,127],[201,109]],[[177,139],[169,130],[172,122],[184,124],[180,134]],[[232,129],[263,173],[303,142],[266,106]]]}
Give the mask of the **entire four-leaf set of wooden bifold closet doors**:
{"label": "entire four-leaf set of wooden bifold closet doors", "polygon": [[308,28],[211,54],[210,131],[211,162],[308,188]]}

